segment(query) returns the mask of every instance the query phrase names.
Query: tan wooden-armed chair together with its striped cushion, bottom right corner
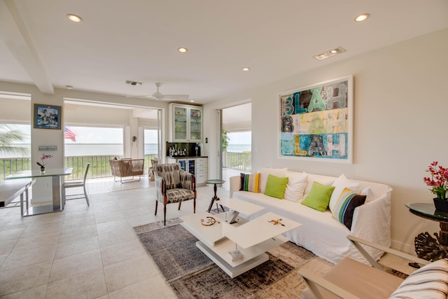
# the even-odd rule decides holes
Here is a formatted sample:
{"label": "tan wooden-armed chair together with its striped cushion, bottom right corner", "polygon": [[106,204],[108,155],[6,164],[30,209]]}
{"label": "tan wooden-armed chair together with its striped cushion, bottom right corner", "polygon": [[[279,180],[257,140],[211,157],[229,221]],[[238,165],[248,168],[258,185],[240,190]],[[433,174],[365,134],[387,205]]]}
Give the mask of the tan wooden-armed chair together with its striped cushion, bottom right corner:
{"label": "tan wooden-armed chair together with its striped cushion, bottom right corner", "polygon": [[[302,299],[447,298],[448,259],[430,262],[352,235],[347,238],[373,267],[351,258],[344,258],[323,277],[311,270],[301,269],[299,274],[308,285],[308,288],[302,291]],[[402,279],[386,272],[365,251],[363,248],[365,245],[424,266],[412,272],[406,279]]]}

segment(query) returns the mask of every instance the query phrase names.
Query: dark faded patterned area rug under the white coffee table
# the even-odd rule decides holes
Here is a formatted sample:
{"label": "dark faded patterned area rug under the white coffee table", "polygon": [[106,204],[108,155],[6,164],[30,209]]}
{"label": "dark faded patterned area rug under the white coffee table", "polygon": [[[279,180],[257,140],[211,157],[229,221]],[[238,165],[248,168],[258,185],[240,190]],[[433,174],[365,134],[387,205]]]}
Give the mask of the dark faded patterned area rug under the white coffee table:
{"label": "dark faded patterned area rug under the white coffee table", "polygon": [[300,298],[297,269],[315,256],[291,242],[268,252],[269,260],[230,278],[196,247],[197,239],[179,218],[134,230],[178,298]]}

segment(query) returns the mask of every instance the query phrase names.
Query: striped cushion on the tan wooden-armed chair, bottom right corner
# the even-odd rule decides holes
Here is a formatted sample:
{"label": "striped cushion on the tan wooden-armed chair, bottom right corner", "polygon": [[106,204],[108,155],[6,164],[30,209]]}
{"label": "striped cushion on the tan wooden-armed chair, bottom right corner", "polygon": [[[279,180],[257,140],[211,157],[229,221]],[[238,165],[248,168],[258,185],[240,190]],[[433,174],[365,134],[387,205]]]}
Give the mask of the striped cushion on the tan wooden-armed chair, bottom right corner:
{"label": "striped cushion on the tan wooden-armed chair, bottom right corner", "polygon": [[445,299],[448,296],[448,260],[436,260],[410,274],[389,298]]}

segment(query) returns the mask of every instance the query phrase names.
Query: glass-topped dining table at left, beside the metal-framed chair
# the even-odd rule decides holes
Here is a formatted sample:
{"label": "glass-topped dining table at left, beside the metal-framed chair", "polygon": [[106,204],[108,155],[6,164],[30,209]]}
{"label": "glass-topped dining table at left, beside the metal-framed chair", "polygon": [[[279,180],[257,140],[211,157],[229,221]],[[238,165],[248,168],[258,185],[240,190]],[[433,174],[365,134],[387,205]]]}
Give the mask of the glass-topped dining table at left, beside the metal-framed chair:
{"label": "glass-topped dining table at left, beside the metal-framed chair", "polygon": [[[16,172],[10,176],[6,176],[5,179],[38,179],[43,177],[51,177],[52,179],[52,204],[36,206],[36,207],[25,207],[23,209],[22,216],[31,216],[36,214],[52,213],[55,211],[62,211],[65,205],[65,199],[62,197],[62,178],[68,176],[73,172],[73,168],[55,168],[55,169],[45,169],[45,172],[40,170],[25,170],[23,172]],[[22,202],[21,202],[22,205]]]}

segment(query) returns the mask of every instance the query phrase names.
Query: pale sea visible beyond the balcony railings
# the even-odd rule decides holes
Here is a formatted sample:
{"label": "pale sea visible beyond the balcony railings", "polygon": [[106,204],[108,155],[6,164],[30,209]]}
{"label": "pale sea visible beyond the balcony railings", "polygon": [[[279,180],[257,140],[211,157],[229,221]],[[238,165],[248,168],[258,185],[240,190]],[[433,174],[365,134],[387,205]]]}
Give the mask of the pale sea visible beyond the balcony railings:
{"label": "pale sea visible beyond the balcony railings", "polygon": [[[29,144],[23,146],[29,148]],[[229,144],[227,151],[234,153],[242,153],[251,151],[250,144]],[[46,152],[51,155],[51,152]],[[145,144],[145,154],[157,153],[157,144]],[[123,144],[66,144],[66,157],[82,156],[82,155],[123,155]],[[23,158],[29,157],[29,153],[25,155],[4,154],[0,153],[0,158]]]}

